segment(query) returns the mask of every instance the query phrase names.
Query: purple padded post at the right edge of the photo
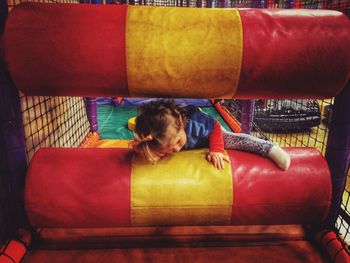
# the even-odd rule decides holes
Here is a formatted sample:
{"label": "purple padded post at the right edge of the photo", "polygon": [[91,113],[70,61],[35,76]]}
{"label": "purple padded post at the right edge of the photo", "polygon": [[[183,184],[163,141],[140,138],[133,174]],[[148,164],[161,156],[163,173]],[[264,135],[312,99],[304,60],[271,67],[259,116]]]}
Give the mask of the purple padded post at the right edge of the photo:
{"label": "purple padded post at the right edge of the photo", "polygon": [[[350,162],[350,81],[335,98],[329,125],[326,160],[332,176],[332,205],[326,221],[334,227],[340,211]],[[348,222],[350,223],[350,222]]]}

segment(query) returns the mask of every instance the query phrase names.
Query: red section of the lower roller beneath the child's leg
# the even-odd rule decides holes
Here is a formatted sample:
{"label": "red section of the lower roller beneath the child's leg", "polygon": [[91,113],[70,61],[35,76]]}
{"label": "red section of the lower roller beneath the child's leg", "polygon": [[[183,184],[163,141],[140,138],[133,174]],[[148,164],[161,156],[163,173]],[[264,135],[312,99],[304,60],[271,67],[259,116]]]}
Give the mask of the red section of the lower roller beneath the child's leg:
{"label": "red section of the lower roller beneath the child's leg", "polygon": [[258,155],[229,152],[234,175],[232,224],[302,224],[325,219],[332,196],[326,160],[313,148],[285,150],[292,159],[287,172]]}

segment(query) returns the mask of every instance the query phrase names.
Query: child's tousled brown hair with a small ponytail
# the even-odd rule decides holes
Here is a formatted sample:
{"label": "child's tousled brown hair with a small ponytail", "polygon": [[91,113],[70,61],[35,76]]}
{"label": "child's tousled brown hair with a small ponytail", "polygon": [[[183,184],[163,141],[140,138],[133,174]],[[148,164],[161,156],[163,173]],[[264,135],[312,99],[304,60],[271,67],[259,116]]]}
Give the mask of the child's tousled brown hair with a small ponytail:
{"label": "child's tousled brown hair with a small ponytail", "polygon": [[154,163],[160,159],[154,151],[167,143],[168,127],[174,125],[178,130],[184,127],[185,108],[172,99],[162,99],[142,105],[138,113],[132,147],[137,154]]}

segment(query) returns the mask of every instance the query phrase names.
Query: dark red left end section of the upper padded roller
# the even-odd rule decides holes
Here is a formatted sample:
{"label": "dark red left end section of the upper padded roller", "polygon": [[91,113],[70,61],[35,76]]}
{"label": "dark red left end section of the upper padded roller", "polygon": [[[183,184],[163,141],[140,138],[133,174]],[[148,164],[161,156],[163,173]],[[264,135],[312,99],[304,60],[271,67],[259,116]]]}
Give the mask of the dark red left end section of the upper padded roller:
{"label": "dark red left end section of the upper padded roller", "polygon": [[126,5],[26,3],[15,8],[2,52],[17,88],[38,96],[128,96],[126,12]]}

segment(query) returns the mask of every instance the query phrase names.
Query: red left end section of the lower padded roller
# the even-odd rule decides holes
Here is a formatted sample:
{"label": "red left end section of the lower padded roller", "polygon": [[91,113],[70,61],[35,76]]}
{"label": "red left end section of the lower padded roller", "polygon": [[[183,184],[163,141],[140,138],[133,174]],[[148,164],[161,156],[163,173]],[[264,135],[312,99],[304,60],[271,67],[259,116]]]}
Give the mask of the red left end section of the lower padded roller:
{"label": "red left end section of the lower padded roller", "polygon": [[30,223],[129,226],[131,157],[126,149],[40,149],[26,177]]}

